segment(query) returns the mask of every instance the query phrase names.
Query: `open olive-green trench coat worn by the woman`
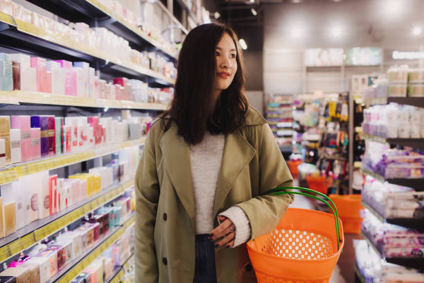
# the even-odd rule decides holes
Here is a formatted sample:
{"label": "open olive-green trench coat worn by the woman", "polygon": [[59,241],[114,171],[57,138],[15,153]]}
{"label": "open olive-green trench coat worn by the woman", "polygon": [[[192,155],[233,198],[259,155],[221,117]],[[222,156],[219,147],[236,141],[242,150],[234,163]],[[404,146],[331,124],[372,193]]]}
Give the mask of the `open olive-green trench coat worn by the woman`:
{"label": "open olive-green trench coat worn by the woman", "polygon": [[[293,180],[267,121],[253,108],[246,126],[227,135],[215,195],[216,216],[232,205],[247,215],[251,239],[272,231],[292,195],[260,196]],[[219,283],[256,282],[246,245],[215,250]],[[153,123],[136,171],[135,274],[138,283],[192,283],[195,206],[190,148],[177,126]]]}

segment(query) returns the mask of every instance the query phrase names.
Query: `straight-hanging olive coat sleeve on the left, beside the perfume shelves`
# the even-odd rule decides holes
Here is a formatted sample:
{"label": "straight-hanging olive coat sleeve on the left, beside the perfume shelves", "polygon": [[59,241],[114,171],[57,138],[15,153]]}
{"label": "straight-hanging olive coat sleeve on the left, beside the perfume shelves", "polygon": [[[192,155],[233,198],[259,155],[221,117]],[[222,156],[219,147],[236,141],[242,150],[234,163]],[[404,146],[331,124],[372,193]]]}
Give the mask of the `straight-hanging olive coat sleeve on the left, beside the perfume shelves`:
{"label": "straight-hanging olive coat sleeve on the left, beside the perfume shelves", "polygon": [[154,130],[150,130],[136,171],[135,282],[158,282],[154,225],[159,201]]}

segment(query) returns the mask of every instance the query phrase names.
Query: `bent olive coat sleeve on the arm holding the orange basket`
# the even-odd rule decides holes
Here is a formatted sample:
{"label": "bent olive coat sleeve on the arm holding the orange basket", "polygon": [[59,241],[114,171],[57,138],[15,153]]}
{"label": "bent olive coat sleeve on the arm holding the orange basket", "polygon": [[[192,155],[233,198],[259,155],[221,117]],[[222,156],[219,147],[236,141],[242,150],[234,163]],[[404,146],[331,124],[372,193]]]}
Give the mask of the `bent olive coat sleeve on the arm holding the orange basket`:
{"label": "bent olive coat sleeve on the arm holding the orange basket", "polygon": [[263,196],[276,187],[290,187],[293,178],[290,174],[279,146],[276,144],[268,124],[258,129],[259,194],[250,200],[238,203],[249,218],[251,239],[271,232],[279,224],[288,205],[293,202],[292,194]]}

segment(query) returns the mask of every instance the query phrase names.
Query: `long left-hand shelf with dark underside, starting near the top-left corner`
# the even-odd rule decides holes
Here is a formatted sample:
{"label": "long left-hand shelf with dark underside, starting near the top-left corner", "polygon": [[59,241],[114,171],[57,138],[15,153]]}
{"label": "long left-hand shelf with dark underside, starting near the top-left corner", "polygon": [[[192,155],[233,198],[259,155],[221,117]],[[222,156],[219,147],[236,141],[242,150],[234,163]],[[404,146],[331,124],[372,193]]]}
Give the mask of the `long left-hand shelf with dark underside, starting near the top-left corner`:
{"label": "long left-hand shelf with dark underside, starting near the top-left corner", "polygon": [[175,80],[168,78],[150,69],[145,69],[132,62],[123,62],[116,55],[93,49],[80,42],[64,37],[51,35],[46,31],[14,19],[10,15],[0,12],[0,45],[13,46],[15,49],[34,51],[46,57],[62,58],[66,56],[75,60],[98,62],[103,66],[100,71],[118,71],[126,76],[135,78],[150,77],[161,85],[173,85]]}

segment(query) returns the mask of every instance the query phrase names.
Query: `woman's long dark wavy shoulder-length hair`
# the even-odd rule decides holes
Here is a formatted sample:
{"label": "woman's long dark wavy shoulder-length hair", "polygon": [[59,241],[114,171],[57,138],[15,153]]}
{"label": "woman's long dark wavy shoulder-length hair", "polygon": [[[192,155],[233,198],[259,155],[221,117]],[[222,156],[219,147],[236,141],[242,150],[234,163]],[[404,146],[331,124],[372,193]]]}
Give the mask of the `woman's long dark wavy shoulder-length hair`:
{"label": "woman's long dark wavy shoulder-length hair", "polygon": [[[215,50],[228,33],[237,50],[237,71],[231,85],[213,105],[217,72]],[[170,109],[161,115],[162,127],[177,124],[178,135],[188,144],[199,144],[206,130],[229,134],[245,123],[249,103],[245,96],[242,53],[236,33],[223,24],[203,24],[188,33],[179,52],[175,95]]]}

